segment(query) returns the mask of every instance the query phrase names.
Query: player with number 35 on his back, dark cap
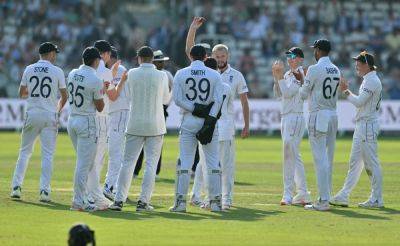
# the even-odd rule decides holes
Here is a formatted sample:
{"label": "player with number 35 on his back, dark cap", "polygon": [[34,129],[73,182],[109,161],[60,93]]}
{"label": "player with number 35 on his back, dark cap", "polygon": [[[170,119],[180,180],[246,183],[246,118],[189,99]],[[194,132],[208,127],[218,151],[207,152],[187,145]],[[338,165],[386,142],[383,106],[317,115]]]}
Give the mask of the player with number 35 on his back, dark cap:
{"label": "player with number 35 on his back, dark cap", "polygon": [[68,134],[76,152],[74,196],[71,210],[96,211],[99,208],[88,201],[88,174],[96,156],[96,111],[104,108],[103,81],[96,75],[101,57],[94,47],[82,54],[83,65],[68,75],[70,115]]}

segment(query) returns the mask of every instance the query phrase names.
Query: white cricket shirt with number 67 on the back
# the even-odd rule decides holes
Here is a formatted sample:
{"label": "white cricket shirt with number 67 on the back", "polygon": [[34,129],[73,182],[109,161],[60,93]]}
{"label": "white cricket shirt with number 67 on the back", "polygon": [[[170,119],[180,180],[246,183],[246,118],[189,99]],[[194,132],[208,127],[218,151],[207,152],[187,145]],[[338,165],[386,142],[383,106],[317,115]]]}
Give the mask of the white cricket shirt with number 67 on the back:
{"label": "white cricket shirt with number 67 on the back", "polygon": [[336,111],[339,81],[340,70],[327,56],[321,57],[317,64],[307,69],[300,95],[304,100],[308,98],[310,112]]}

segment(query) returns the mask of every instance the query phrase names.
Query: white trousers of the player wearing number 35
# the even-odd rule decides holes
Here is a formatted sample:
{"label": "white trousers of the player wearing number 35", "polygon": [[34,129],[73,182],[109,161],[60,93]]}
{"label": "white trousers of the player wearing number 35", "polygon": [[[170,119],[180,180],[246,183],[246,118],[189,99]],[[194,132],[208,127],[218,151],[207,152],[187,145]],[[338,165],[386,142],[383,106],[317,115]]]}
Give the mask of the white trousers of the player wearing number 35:
{"label": "white trousers of the player wearing number 35", "polygon": [[96,117],[70,115],[67,130],[76,152],[73,203],[83,207],[88,202],[88,174],[96,156]]}

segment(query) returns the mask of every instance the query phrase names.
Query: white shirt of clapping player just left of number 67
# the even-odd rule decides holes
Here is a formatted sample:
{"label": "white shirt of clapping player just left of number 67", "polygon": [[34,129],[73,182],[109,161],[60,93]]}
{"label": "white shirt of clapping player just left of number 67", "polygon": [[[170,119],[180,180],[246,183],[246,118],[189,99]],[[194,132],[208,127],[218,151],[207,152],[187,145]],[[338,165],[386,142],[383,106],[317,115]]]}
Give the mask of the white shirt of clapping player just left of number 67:
{"label": "white shirt of clapping player just left of number 67", "polygon": [[[304,76],[303,68],[299,67],[296,70]],[[283,79],[278,81],[278,86],[274,84],[274,94],[282,101],[281,114],[303,113],[304,100],[301,98],[299,89],[300,81],[296,79],[292,71],[287,71]]]}

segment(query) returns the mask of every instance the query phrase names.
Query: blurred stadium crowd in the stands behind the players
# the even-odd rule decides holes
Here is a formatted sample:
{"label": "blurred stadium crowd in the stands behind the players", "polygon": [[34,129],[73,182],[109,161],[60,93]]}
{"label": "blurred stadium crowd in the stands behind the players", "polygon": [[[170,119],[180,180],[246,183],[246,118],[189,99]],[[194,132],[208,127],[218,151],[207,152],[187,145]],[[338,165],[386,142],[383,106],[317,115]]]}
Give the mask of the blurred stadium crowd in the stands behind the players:
{"label": "blurred stadium crowd in the stands behind the players", "polygon": [[38,59],[37,46],[54,41],[62,48],[58,65],[67,74],[80,64],[83,48],[102,38],[120,49],[127,67],[135,51],[148,44],[170,56],[171,72],[188,64],[187,29],[194,15],[207,18],[198,41],[224,42],[231,63],[242,71],[251,98],[272,97],[271,62],[291,46],[314,62],[312,42],[333,43],[331,57],[352,81],[350,57],[362,49],[375,54],[384,99],[400,99],[399,1],[0,1],[0,97],[16,97],[26,65]]}

